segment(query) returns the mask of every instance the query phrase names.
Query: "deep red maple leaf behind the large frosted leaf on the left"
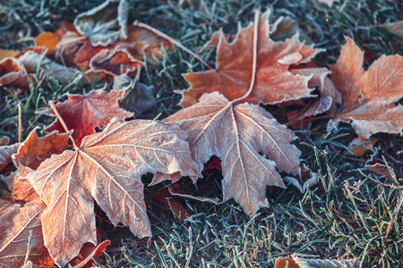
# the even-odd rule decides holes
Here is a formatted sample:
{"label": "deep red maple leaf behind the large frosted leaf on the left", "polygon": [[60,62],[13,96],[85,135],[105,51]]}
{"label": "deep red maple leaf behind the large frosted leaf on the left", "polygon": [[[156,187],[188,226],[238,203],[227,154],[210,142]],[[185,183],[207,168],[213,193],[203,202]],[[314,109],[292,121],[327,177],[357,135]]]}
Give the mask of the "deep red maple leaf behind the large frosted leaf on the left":
{"label": "deep red maple leaf behind the large frosted leaf on the left", "polygon": [[[117,101],[124,96],[124,90],[110,91],[92,90],[87,95],[68,95],[68,99],[57,104],[56,109],[64,119],[67,129],[74,130],[73,138],[78,146],[81,139],[95,133],[95,128],[103,129],[113,118],[125,119],[133,116],[133,113],[120,108]],[[40,112],[55,114],[52,110]],[[47,132],[58,130],[64,132],[61,122],[56,119],[45,129]]]}

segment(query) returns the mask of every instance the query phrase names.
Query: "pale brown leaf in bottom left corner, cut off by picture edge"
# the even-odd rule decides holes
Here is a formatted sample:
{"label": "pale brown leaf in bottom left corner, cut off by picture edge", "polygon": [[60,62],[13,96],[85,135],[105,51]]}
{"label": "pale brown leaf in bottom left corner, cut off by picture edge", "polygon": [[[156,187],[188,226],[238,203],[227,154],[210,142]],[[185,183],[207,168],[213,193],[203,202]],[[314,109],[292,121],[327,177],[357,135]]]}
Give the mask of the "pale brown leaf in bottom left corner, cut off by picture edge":
{"label": "pale brown leaf in bottom left corner, cut off by picture edge", "polygon": [[33,264],[53,266],[54,262],[43,246],[40,217],[45,209],[46,205],[40,199],[24,206],[0,199],[0,267],[21,267],[27,252],[30,252]]}

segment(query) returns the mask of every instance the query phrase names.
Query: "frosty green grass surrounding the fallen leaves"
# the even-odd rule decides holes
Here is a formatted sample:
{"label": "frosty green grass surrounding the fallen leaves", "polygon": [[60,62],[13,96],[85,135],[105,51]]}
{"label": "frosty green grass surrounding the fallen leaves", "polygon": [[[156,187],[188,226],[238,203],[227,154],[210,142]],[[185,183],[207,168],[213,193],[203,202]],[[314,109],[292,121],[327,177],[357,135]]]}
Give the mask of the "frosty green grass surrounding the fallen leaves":
{"label": "frosty green grass surrounding the fallen leaves", "polygon": [[[341,1],[330,9],[310,0],[301,1],[135,1],[130,2],[130,21],[139,20],[160,29],[184,46],[215,64],[215,52],[204,49],[211,34],[223,28],[235,33],[238,22],[253,21],[254,9],[270,9],[271,19],[290,16],[318,47],[314,62],[319,66],[334,63],[344,36],[354,37],[365,49],[365,66],[382,54],[402,54],[399,37],[379,25],[402,20],[399,0]],[[31,37],[57,29],[57,21],[72,21],[81,12],[103,1],[5,1],[0,4],[0,46],[21,48]],[[159,64],[147,63],[141,82],[156,88],[158,109],[150,118],[175,113],[179,95],[175,89],[188,85],[181,74],[203,71],[204,66],[179,49],[164,52]],[[65,100],[66,93],[82,93],[102,88],[64,87],[54,81],[32,84],[29,91],[0,88],[0,135],[17,141],[17,105],[21,104],[23,138],[36,126],[52,119],[36,111],[49,100]],[[284,121],[284,110],[270,107]],[[293,253],[317,258],[358,258],[362,267],[403,267],[403,186],[390,183],[364,168],[370,153],[361,157],[348,154],[347,144],[356,136],[351,126],[341,124],[325,137],[327,120],[313,121],[296,130],[296,146],[302,159],[316,172],[320,183],[304,194],[296,188],[270,188],[270,208],[252,219],[233,201],[211,205],[184,200],[192,214],[180,222],[168,210],[146,197],[153,238],[138,240],[127,228],[113,227],[100,220],[99,226],[112,239],[103,267],[271,267],[279,256]],[[378,135],[378,157],[382,156],[403,174],[403,138]],[[194,195],[222,198],[219,172],[193,185],[181,181]],[[147,179],[145,179],[147,180]],[[148,191],[156,192],[162,186]],[[148,247],[150,243],[150,247]]]}

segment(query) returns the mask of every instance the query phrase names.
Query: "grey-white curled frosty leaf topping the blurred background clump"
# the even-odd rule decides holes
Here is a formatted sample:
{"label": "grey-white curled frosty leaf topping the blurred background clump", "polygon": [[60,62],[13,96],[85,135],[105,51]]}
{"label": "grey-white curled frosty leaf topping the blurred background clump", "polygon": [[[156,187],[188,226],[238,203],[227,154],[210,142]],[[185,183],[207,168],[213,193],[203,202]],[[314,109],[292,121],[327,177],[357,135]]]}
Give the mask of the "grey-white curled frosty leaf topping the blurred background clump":
{"label": "grey-white curled frosty leaf topping the blurred background clump", "polygon": [[73,24],[81,35],[90,38],[92,46],[107,46],[127,38],[126,0],[107,0],[88,12],[79,14]]}

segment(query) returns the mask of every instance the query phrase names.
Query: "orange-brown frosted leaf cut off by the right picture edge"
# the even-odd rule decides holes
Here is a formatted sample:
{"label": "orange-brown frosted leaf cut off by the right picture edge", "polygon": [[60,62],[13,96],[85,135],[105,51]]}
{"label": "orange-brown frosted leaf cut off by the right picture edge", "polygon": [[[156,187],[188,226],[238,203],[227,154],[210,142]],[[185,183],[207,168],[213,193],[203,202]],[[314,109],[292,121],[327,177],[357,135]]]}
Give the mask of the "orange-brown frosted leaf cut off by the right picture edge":
{"label": "orange-brown frosted leaf cut off by the right picture edge", "polygon": [[330,66],[344,109],[330,121],[329,129],[339,121],[351,121],[361,140],[379,132],[402,135],[403,105],[395,104],[403,96],[403,58],[382,55],[368,71],[362,67],[363,60],[364,53],[347,38],[338,62]]}

